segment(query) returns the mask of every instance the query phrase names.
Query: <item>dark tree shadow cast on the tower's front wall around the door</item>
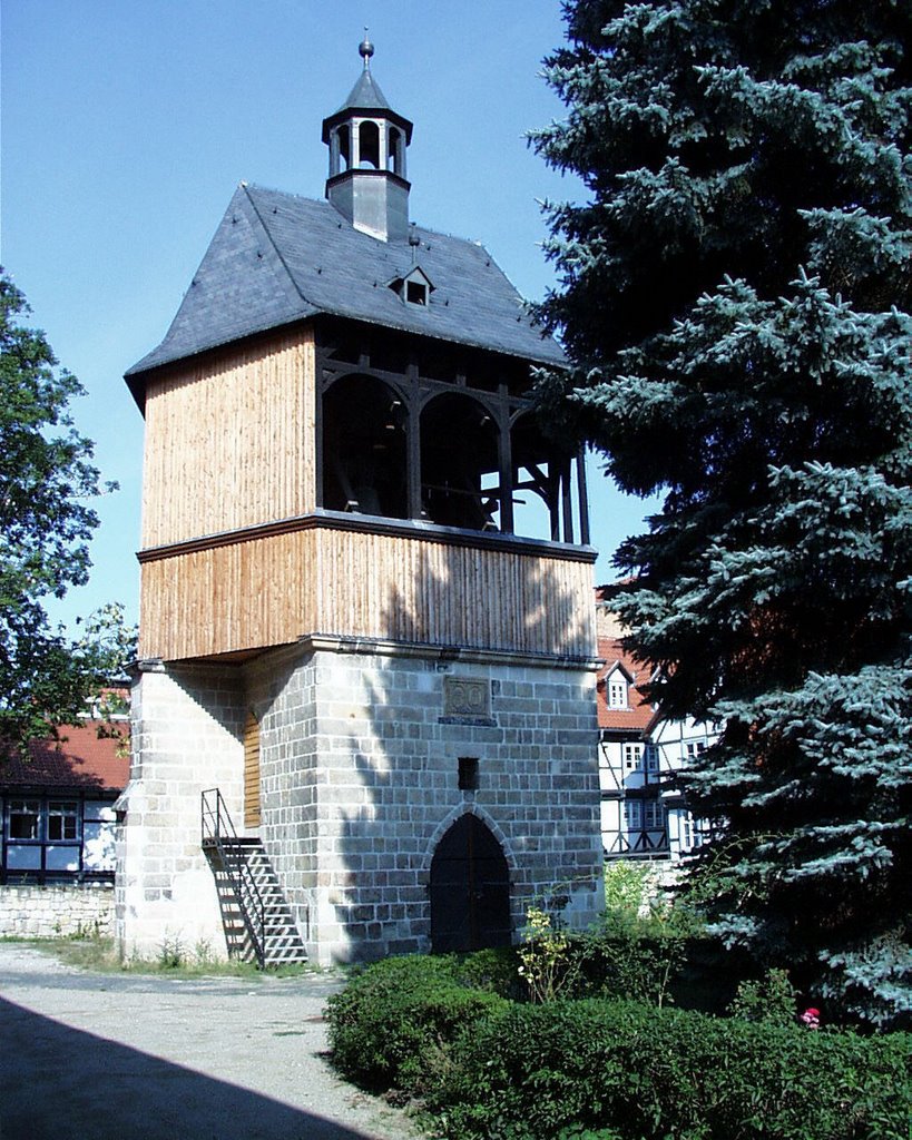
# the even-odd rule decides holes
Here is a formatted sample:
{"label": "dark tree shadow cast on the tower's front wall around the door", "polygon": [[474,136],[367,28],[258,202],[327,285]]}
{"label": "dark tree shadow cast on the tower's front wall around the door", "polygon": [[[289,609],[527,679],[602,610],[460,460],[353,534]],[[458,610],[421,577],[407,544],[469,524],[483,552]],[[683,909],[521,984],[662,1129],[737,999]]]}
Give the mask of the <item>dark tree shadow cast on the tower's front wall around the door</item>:
{"label": "dark tree shadow cast on the tower's front wall around the door", "polygon": [[[385,588],[376,628],[358,630],[359,695],[348,695],[360,709],[344,740],[351,806],[339,806],[345,870],[334,898],[352,958],[430,947],[431,858],[466,812],[504,848],[514,928],[543,886],[578,871],[594,880],[563,854],[578,850],[585,826],[594,858],[601,852],[591,578],[579,562],[415,544],[407,573]],[[369,638],[399,651],[365,660]],[[559,676],[549,681],[545,667]],[[487,687],[482,715],[448,708],[447,677]],[[562,705],[567,684],[572,708]],[[470,758],[474,788],[465,767],[461,776]]]}

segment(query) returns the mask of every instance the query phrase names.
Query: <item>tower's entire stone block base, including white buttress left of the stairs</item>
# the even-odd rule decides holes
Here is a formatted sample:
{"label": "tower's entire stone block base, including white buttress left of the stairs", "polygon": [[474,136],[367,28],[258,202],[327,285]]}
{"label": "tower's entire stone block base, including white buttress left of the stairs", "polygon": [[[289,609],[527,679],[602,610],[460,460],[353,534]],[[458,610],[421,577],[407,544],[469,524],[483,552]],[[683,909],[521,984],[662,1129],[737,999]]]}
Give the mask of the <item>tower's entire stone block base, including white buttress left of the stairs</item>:
{"label": "tower's entire stone block base, including white buttress left of the stairs", "polygon": [[120,805],[117,939],[225,951],[199,793],[243,830],[243,725],[259,725],[261,839],[311,959],[431,948],[431,871],[471,813],[499,846],[508,923],[557,894],[602,909],[593,663],[312,637],[234,668],[142,674]]}

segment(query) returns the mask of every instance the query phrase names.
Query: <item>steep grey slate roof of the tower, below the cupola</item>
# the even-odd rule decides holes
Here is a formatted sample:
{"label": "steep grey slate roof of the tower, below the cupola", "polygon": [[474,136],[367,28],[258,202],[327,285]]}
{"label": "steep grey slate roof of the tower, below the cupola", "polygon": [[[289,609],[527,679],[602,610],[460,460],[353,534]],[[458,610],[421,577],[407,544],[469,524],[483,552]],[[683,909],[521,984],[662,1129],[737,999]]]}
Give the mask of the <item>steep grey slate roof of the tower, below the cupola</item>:
{"label": "steep grey slate roof of the tower, below the cupola", "polygon": [[[413,230],[417,246],[381,242],[328,202],[242,182],[164,340],[128,370],[135,394],[150,368],[319,314],[564,363],[482,245]],[[416,264],[435,286],[426,306],[388,287]]]}

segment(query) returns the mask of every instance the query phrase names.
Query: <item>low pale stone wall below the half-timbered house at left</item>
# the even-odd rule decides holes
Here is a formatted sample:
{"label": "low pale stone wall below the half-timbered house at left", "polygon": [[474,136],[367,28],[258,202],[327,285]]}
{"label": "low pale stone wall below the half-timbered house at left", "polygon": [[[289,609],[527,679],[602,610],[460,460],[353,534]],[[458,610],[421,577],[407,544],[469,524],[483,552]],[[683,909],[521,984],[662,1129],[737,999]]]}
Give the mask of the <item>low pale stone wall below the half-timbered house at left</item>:
{"label": "low pale stone wall below the half-timbered house at left", "polygon": [[107,938],[113,933],[113,883],[0,887],[2,938]]}

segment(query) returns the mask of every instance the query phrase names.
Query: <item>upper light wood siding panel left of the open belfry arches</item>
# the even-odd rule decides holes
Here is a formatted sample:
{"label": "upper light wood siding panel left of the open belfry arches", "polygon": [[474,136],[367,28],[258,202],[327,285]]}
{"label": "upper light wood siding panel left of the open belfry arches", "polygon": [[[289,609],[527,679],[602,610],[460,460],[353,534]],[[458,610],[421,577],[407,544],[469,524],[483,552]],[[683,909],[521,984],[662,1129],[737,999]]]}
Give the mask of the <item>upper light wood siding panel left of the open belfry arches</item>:
{"label": "upper light wood siding panel left of the open belfry arches", "polygon": [[142,547],[312,511],[312,329],[148,382]]}

